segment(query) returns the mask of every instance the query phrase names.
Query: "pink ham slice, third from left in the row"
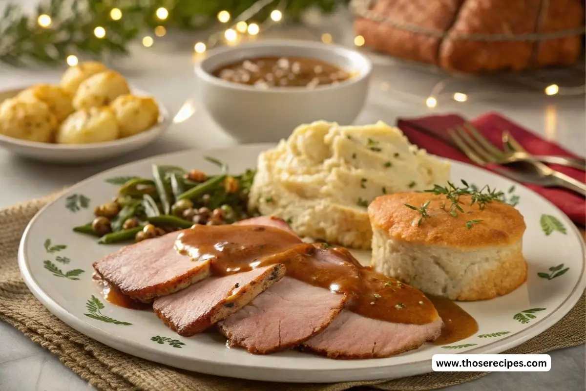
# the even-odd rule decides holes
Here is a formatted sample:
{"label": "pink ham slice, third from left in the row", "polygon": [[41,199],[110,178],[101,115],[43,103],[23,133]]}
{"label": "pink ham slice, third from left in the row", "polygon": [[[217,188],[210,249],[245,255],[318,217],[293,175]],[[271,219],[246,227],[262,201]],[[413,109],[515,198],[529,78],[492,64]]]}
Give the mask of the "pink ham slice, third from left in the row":
{"label": "pink ham slice, third from left in the row", "polygon": [[345,301],[342,294],[285,276],[218,326],[231,346],[255,354],[272,353],[321,332],[342,311]]}

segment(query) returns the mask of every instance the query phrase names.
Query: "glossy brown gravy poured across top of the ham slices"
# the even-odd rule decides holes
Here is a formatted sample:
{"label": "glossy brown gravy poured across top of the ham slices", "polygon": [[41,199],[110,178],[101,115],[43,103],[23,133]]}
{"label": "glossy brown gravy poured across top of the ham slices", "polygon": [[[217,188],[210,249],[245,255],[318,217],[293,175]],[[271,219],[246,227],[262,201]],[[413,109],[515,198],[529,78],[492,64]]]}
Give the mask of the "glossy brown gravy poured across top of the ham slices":
{"label": "glossy brown gravy poured across top of the ham slices", "polygon": [[196,226],[179,234],[175,247],[194,261],[209,261],[213,276],[284,264],[285,275],[347,295],[347,308],[363,317],[423,325],[439,318],[423,293],[375,273],[342,248],[302,243],[272,226]]}

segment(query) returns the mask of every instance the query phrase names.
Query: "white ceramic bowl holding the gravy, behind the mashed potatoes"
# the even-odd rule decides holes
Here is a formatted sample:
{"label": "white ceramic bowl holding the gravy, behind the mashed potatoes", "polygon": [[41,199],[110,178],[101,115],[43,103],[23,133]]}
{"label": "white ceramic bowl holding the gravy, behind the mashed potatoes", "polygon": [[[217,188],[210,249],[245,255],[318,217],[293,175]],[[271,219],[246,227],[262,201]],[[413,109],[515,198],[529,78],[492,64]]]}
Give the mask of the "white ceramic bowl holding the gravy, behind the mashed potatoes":
{"label": "white ceramic bowl holding the gravy, behind the mashed potatoes", "polygon": [[[272,87],[233,83],[213,76],[219,67],[251,57],[298,56],[322,60],[356,76],[335,85]],[[195,66],[201,104],[240,142],[278,141],[299,124],[317,120],[351,124],[364,106],[372,63],[352,49],[303,40],[263,40],[210,50]]]}

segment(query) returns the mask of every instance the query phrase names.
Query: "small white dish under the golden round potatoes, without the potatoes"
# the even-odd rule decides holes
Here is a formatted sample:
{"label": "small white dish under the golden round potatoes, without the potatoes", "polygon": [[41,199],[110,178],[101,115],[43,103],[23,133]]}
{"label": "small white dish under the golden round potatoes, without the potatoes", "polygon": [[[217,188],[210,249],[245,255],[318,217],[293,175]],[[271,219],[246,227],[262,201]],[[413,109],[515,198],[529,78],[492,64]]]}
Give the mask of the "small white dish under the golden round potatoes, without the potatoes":
{"label": "small white dish under the golden round potatoes, without the potatoes", "polygon": [[[28,86],[27,86],[28,87]],[[0,92],[0,102],[15,97],[27,87]],[[145,91],[130,87],[132,94],[150,96]],[[153,127],[130,137],[120,138],[114,141],[96,142],[93,144],[50,144],[20,140],[0,134],[0,147],[8,149],[16,155],[21,155],[37,161],[56,164],[85,164],[90,162],[105,161],[127,152],[145,147],[158,138],[171,124],[171,118],[167,109],[160,101],[159,121]]]}

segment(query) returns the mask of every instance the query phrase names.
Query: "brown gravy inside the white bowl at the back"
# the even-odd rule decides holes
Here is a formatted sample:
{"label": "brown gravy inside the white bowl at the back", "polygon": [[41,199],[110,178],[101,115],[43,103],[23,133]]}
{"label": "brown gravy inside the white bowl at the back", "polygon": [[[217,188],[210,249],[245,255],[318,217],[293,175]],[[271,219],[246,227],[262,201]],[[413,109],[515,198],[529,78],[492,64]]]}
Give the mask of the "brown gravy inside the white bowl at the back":
{"label": "brown gravy inside the white bowl at the back", "polygon": [[222,66],[213,75],[261,89],[314,88],[322,84],[336,84],[352,77],[351,73],[340,67],[306,57],[255,57]]}

